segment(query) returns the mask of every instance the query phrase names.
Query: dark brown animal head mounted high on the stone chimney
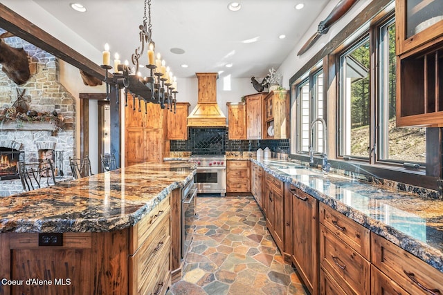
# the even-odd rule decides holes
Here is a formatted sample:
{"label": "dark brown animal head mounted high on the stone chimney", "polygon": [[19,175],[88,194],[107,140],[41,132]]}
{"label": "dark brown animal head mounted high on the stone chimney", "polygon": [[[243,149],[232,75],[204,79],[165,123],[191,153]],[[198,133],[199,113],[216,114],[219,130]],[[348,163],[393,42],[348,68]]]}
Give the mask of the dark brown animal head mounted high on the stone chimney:
{"label": "dark brown animal head mounted high on the stone chimney", "polygon": [[15,84],[21,85],[30,77],[28,55],[23,48],[12,48],[0,39],[1,70]]}

